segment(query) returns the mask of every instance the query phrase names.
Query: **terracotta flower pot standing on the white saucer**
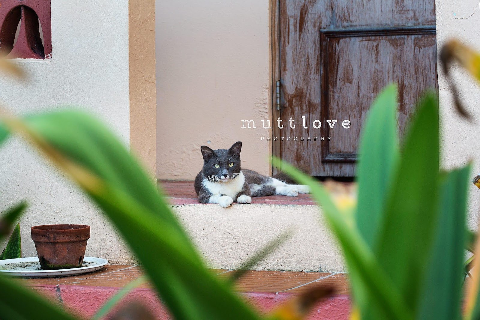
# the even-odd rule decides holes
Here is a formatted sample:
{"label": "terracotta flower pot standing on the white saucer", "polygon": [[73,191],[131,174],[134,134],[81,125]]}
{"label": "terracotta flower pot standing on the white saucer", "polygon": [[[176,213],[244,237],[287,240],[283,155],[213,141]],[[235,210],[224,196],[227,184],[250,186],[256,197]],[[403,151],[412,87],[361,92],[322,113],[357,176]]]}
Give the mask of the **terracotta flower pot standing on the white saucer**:
{"label": "terracotta flower pot standing on the white saucer", "polygon": [[36,225],[30,230],[43,270],[82,266],[90,238],[89,225]]}

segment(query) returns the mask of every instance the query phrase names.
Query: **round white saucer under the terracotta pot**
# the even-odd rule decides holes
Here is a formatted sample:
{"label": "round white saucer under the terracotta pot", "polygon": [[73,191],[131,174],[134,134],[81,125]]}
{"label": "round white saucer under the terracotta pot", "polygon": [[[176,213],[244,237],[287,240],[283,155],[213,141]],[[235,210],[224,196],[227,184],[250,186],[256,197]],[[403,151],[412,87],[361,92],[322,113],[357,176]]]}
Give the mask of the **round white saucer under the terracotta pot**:
{"label": "round white saucer under the terracotta pot", "polygon": [[102,269],[108,263],[102,258],[84,257],[84,263],[80,268],[42,270],[38,257],[0,260],[0,273],[27,278],[64,277],[94,272]]}

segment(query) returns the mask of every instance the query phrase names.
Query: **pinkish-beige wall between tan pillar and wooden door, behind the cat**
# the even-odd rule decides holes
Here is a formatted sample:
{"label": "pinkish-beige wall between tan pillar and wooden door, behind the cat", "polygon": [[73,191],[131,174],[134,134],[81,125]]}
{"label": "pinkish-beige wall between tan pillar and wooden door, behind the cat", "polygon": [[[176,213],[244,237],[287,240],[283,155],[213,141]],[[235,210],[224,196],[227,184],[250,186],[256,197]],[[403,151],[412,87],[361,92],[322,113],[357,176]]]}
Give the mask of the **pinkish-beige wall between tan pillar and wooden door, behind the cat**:
{"label": "pinkish-beige wall between tan pillar and wooden door, behind the cat", "polygon": [[240,129],[271,119],[269,59],[268,0],[156,1],[158,178],[192,180],[201,145],[237,141],[242,166],[269,173],[268,130]]}

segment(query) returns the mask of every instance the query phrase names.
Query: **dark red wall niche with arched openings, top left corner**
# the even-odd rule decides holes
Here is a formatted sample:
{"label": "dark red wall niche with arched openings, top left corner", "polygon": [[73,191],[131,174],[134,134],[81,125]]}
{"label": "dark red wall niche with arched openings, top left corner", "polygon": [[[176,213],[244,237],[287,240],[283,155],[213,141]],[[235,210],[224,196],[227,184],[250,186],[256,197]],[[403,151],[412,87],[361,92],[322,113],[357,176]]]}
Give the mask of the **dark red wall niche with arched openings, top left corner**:
{"label": "dark red wall niche with arched openings, top left corner", "polygon": [[52,56],[50,0],[0,0],[0,56]]}

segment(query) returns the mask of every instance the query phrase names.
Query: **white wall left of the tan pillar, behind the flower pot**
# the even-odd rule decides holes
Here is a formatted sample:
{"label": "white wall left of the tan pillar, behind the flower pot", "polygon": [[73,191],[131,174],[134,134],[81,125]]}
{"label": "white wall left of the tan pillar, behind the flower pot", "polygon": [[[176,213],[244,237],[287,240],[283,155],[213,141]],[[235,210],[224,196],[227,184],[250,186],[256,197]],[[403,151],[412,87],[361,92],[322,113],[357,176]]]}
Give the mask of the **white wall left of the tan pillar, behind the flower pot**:
{"label": "white wall left of the tan pillar, behind the flower pot", "polygon": [[[129,143],[128,1],[52,1],[52,58],[18,60],[21,83],[1,77],[0,99],[17,114],[69,104],[94,113]],[[102,213],[75,185],[19,139],[0,148],[0,208],[26,200],[23,255],[36,256],[30,226],[92,226],[87,255],[129,262]]]}

